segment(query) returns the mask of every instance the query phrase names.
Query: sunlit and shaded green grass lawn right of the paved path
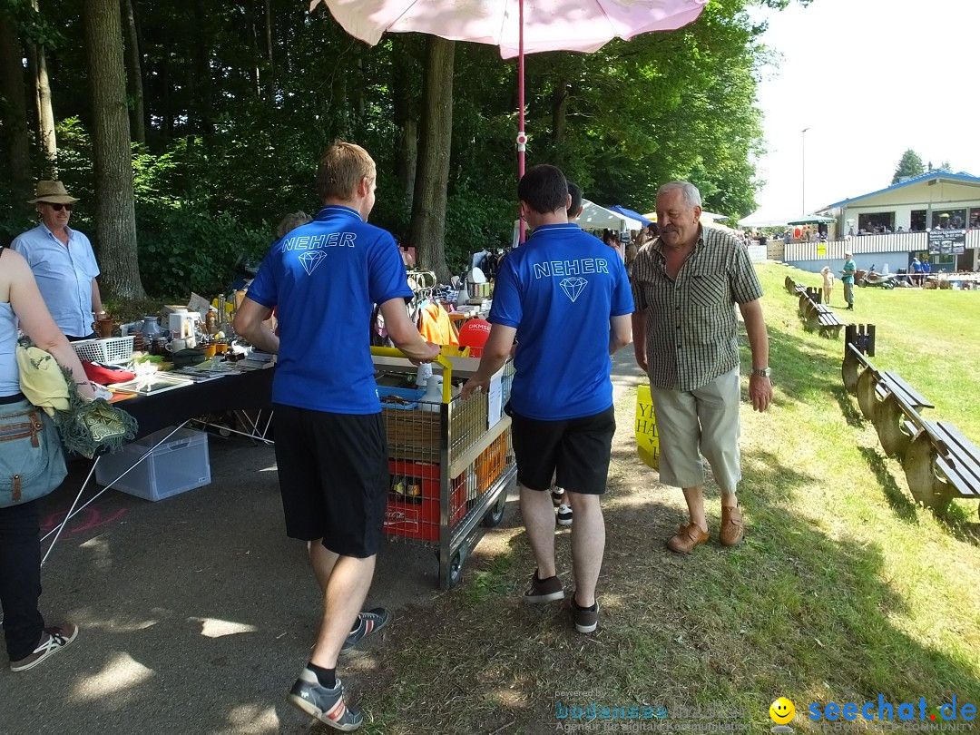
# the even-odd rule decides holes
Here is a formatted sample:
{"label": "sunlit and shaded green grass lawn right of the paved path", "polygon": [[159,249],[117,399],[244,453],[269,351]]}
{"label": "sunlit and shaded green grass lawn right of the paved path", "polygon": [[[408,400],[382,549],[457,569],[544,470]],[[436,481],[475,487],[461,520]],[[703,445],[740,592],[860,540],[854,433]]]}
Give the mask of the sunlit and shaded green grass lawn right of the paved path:
{"label": "sunlit and shaded green grass lawn right of the paved path", "polygon": [[[578,635],[561,606],[522,604],[533,562],[517,518],[500,532],[502,551],[467,564],[460,588],[391,626],[383,665],[355,683],[367,732],[556,732],[557,692],[588,689],[599,705],[662,705],[676,721],[695,721],[699,707],[751,711],[737,720],[759,733],[780,696],[796,704],[798,731],[810,729],[810,703],[980,705],[977,502],[942,516],[912,502],[902,467],[844,390],[843,339],[805,331],[783,288],[787,274],[809,285],[819,275],[759,271],[775,402],[766,414],[743,405],[745,542],[687,557],[663,548],[684,522],[682,498],[636,459],[625,396],[599,630]],[[854,314],[877,327],[876,367],[897,370],[936,405],[928,417],[974,442],[978,315],[980,293],[917,289],[857,289]],[[712,538],[718,517],[713,492]],[[570,594],[566,532],[557,546]]]}

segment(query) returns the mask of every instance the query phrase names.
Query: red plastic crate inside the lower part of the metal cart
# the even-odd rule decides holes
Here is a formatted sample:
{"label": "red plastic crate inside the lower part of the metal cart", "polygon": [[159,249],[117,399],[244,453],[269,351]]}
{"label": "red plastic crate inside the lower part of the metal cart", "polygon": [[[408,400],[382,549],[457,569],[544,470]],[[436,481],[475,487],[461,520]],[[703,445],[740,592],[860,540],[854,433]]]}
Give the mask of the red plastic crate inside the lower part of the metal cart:
{"label": "red plastic crate inside the lower part of the metal cart", "polygon": [[[384,532],[421,541],[439,540],[439,466],[388,460],[390,492]],[[453,480],[450,522],[466,515],[465,475]]]}

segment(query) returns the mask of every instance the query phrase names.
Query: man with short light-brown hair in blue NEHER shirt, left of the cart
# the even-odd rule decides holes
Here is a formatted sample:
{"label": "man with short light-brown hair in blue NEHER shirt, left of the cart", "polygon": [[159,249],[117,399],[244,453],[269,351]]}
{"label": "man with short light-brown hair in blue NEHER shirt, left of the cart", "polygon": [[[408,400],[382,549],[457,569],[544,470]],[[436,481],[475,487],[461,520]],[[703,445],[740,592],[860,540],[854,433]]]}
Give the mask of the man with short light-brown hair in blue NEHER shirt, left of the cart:
{"label": "man with short light-brown hair in blue NEHER shirt, left of the cart", "polygon": [[[323,208],[272,245],[234,323],[279,356],[272,403],[286,533],[308,542],[323,590],[317,642],[289,701],[339,730],[357,729],[363,717],[346,704],[337,658],[391,618],[383,608],[361,612],[388,499],[388,444],[366,329],[373,305],[408,357],[429,362],[440,352],[408,317],[413,294],[395,239],[367,223],[375,178],[361,146],[326,150],[317,172]],[[278,334],[263,324],[273,308]]]}

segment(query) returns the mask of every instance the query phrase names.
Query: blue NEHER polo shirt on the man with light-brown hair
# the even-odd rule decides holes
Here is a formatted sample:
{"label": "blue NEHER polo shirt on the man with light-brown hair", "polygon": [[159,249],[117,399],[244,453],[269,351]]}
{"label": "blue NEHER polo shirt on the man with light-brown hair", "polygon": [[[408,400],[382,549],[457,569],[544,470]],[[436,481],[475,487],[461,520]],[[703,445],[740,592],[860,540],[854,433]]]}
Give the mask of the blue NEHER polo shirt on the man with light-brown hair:
{"label": "blue NEHER polo shirt on the man with light-brown hair", "polygon": [[333,414],[377,414],[368,329],[373,305],[410,298],[398,246],[348,207],[272,245],[248,298],[276,307],[279,358],[272,401]]}

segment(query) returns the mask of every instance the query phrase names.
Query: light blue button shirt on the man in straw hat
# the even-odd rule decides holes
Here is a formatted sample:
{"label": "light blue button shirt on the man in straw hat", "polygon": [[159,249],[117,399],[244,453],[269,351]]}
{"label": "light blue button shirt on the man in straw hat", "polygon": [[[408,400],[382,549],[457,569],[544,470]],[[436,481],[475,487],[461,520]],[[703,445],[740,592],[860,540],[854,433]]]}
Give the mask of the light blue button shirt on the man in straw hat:
{"label": "light blue button shirt on the man in straw hat", "polygon": [[44,224],[28,229],[11,243],[34,271],[37,287],[58,327],[72,337],[92,333],[92,278],[99,274],[92,245],[81,232],[66,227],[68,245]]}

